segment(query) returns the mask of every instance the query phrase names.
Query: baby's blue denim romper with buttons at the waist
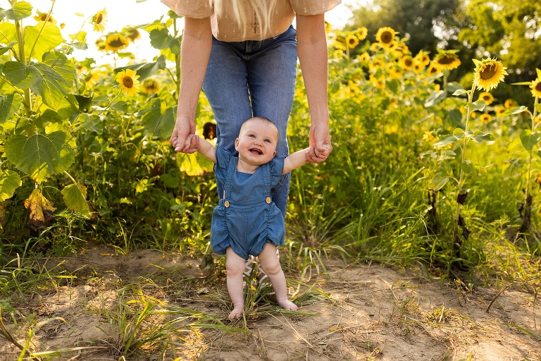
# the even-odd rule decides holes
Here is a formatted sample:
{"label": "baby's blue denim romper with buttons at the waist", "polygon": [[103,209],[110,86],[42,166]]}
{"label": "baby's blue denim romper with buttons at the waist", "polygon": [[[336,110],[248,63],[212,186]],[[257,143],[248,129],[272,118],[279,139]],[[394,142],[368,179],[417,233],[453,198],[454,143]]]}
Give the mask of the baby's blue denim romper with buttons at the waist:
{"label": "baby's blue denim romper with buttons at the waist", "polygon": [[253,174],[237,171],[238,158],[216,147],[214,173],[223,185],[223,198],[214,208],[211,223],[213,252],[224,255],[227,247],[244,259],[257,256],[266,243],[284,244],[284,216],[270,197],[284,169],[285,157],[263,164]]}

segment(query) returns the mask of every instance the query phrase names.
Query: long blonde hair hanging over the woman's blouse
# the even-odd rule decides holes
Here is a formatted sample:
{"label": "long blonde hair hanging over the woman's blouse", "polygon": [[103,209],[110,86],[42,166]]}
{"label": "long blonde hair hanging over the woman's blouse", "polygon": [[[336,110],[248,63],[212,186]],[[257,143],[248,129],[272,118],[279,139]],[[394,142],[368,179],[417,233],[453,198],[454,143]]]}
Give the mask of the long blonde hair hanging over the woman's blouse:
{"label": "long blonde hair hanging over the woman's blouse", "polygon": [[261,27],[261,34],[263,34],[272,27],[276,2],[277,0],[213,0],[216,13],[223,13],[228,6],[232,6],[235,20],[244,34],[248,32],[251,22],[254,21],[247,16],[246,3],[249,3],[254,9],[255,16],[259,20],[259,26]]}

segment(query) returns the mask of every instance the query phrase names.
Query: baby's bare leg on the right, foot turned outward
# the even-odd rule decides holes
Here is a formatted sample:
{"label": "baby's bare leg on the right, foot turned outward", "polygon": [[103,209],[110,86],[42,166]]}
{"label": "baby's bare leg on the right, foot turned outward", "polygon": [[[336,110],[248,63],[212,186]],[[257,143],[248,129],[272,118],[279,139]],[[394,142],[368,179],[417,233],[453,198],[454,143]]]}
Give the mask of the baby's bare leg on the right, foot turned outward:
{"label": "baby's bare leg on the right, foot turned outward", "polygon": [[261,262],[261,268],[270,279],[276,294],[276,302],[286,310],[297,310],[297,305],[287,299],[287,284],[285,283],[284,271],[280,267],[280,260],[276,255],[276,246],[267,243],[263,251],[257,256]]}

